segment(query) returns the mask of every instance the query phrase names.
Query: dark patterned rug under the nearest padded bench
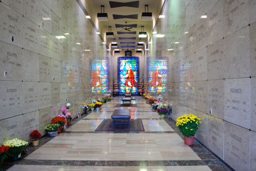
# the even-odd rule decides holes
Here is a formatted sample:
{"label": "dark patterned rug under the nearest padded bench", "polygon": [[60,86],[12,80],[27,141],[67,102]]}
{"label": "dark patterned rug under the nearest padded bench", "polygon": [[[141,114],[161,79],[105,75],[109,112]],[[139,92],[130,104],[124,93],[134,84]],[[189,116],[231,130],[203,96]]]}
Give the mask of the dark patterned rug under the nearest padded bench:
{"label": "dark patterned rug under the nearest padded bench", "polygon": [[[128,121],[115,121],[116,123],[128,123]],[[105,119],[95,131],[145,131],[141,119],[130,119],[130,130],[128,124],[115,124],[113,130],[113,120]]]}

